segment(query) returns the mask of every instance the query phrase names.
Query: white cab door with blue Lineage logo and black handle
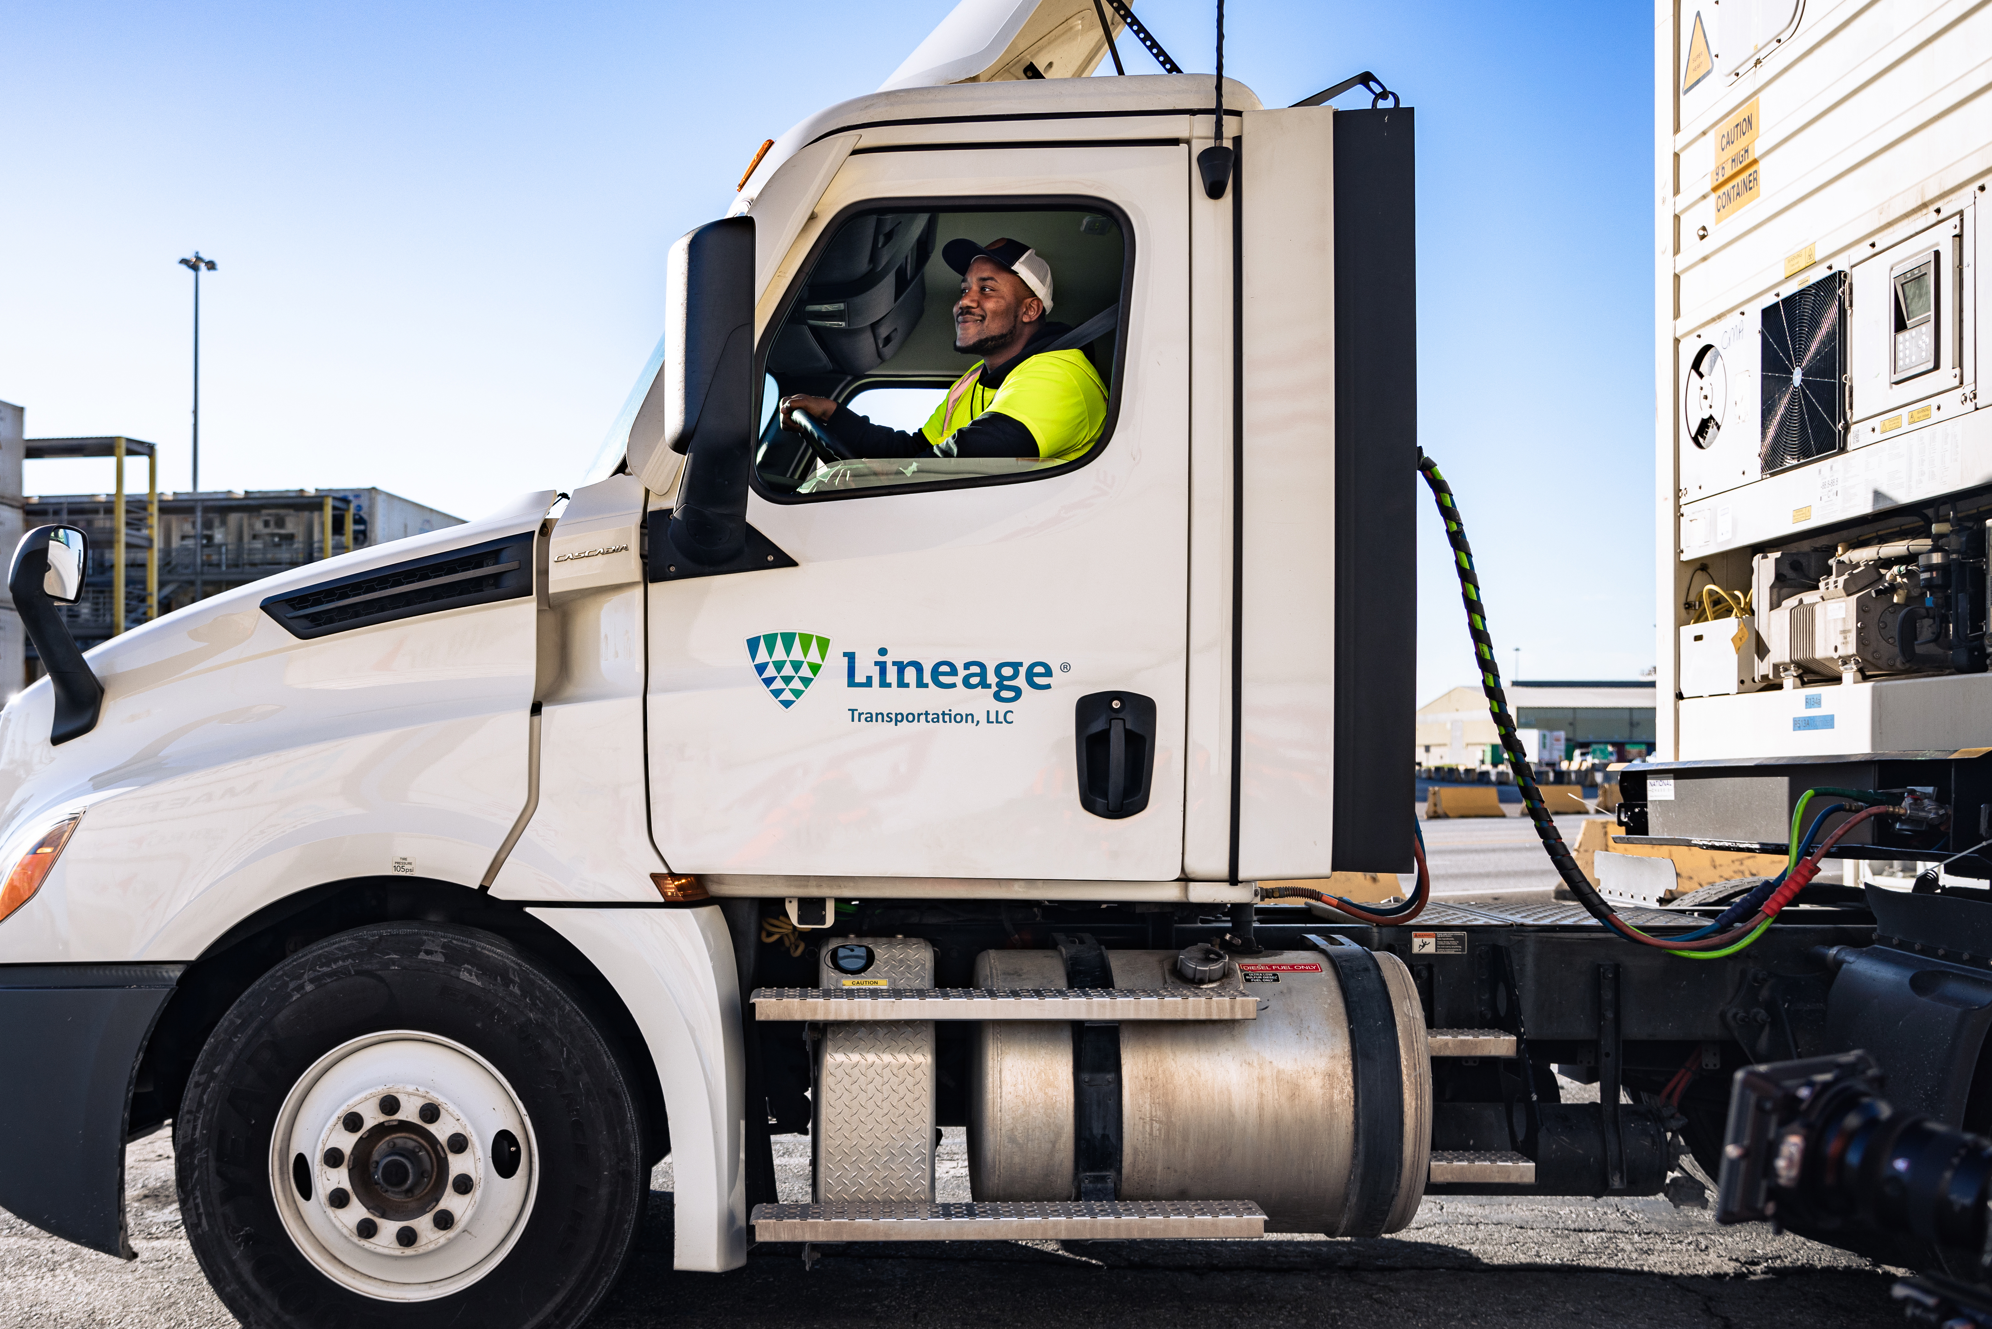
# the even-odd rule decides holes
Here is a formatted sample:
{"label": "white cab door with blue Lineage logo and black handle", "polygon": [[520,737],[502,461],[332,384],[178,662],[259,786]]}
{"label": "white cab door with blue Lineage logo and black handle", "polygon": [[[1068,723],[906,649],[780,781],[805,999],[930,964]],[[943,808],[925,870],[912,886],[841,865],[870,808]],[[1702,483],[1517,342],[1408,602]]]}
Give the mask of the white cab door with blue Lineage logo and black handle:
{"label": "white cab door with blue Lineage logo and black handle", "polygon": [[1080,349],[1104,420],[1030,460],[825,460],[763,428],[747,520],[795,566],[649,586],[673,871],[1181,875],[1191,175],[1153,139],[843,163],[761,297],[769,400],[920,428],[974,363],[946,247],[1006,237],[1048,263],[1052,321],[1118,311]]}

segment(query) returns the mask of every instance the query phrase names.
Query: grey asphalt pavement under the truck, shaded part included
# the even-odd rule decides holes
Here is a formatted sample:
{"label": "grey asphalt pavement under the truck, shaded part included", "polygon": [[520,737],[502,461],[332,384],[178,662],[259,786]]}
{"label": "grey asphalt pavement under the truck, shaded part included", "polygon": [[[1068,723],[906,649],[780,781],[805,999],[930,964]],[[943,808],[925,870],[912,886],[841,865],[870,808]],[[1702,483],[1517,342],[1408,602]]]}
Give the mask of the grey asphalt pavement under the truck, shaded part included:
{"label": "grey asphalt pavement under the truck, shaded part included", "polygon": [[[809,1146],[779,1142],[785,1199],[809,1190]],[[127,1150],[137,1259],[58,1241],[0,1211],[0,1325],[233,1325],[179,1229],[167,1134]],[[641,1247],[594,1329],[835,1325],[882,1329],[1219,1329],[1277,1325],[1898,1323],[1890,1271],[1769,1227],[1717,1227],[1665,1199],[1426,1199],[1394,1237],[759,1245],[725,1275],[671,1269],[671,1172],[657,1170]],[[968,1197],[962,1132],[946,1132],[940,1197]]]}

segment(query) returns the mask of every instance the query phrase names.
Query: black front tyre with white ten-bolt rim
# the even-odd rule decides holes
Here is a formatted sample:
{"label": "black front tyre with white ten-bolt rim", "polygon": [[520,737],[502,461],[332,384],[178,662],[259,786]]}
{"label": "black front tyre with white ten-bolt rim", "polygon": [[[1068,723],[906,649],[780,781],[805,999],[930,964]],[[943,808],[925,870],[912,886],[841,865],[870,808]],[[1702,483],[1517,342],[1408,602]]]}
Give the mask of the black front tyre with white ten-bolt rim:
{"label": "black front tyre with white ten-bolt rim", "polygon": [[647,1196],[635,1094],[554,972],[454,925],[259,978],[175,1122],[193,1253],[245,1325],[578,1325]]}

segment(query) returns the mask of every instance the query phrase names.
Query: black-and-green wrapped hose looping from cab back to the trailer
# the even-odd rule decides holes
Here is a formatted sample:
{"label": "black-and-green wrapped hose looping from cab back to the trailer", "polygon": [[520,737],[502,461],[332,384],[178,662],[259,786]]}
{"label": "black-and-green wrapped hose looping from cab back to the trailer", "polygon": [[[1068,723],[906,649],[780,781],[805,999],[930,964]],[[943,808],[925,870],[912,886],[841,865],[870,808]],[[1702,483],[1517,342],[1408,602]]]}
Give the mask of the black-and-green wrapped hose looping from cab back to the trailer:
{"label": "black-and-green wrapped hose looping from cab back to the trailer", "polygon": [[[1697,960],[1713,960],[1725,954],[1733,954],[1743,946],[1757,940],[1771,921],[1805,889],[1807,883],[1819,873],[1825,855],[1863,821],[1878,817],[1884,813],[1900,815],[1900,807],[1888,805],[1888,799],[1872,791],[1863,789],[1813,789],[1793,811],[1791,827],[1791,859],[1785,873],[1765,883],[1751,895],[1763,893],[1761,903],[1739,901],[1745,905],[1749,917],[1741,923],[1731,925],[1731,915],[1735,909],[1725,911],[1713,927],[1695,929],[1685,936],[1651,936],[1641,932],[1633,925],[1625,923],[1612,909],[1606,897],[1598,895],[1598,887],[1590,883],[1584,871],[1578,867],[1576,857],[1570,853],[1570,845],[1564,843],[1562,831],[1556,829],[1556,821],[1550,817],[1550,809],[1542,801],[1542,791],[1536,787],[1536,773],[1528,765],[1528,753],[1522,749],[1522,737],[1516,733],[1514,715],[1508,713],[1508,693],[1500,685],[1500,669],[1494,665],[1494,638],[1488,634],[1486,626],[1486,606],[1480,598],[1480,574],[1474,570],[1474,552],[1466,544],[1466,526],[1460,522],[1458,502],[1452,498],[1452,486],[1446,478],[1438,474],[1438,462],[1434,462],[1424,452],[1418,452],[1418,474],[1424,476],[1426,488],[1432,490],[1432,500],[1438,504],[1438,516],[1446,524],[1446,542],[1452,546],[1454,572],[1460,578],[1460,600],[1466,604],[1466,632],[1474,644],[1474,662],[1480,667],[1480,691],[1486,693],[1488,711],[1494,715],[1494,729],[1500,735],[1502,751],[1508,757],[1508,769],[1514,771],[1514,783],[1522,791],[1522,807],[1528,811],[1530,823],[1536,827],[1536,835],[1542,839],[1542,849],[1550,855],[1550,865],[1556,867],[1556,875],[1570,887],[1570,893],[1578,899],[1588,915],[1598,919],[1619,936],[1643,946],[1655,946],[1673,954],[1681,954]],[[1833,835],[1813,853],[1813,857],[1801,859],[1803,845],[1799,841],[1799,817],[1805,813],[1805,805],[1811,801],[1813,793],[1851,797],[1859,803],[1868,803],[1863,811],[1855,813],[1843,821]],[[1821,817],[1823,819],[1823,817]],[[1819,823],[1813,823],[1813,831]],[[1807,837],[1811,839],[1811,837]],[[1343,905],[1335,905],[1345,909]]]}

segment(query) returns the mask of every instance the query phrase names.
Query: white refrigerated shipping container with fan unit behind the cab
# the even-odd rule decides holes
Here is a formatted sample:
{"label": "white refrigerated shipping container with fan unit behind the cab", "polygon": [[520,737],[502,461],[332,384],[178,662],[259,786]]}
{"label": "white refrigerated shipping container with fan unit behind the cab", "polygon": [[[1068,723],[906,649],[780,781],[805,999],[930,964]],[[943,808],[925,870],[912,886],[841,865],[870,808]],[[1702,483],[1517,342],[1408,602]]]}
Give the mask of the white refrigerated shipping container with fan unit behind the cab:
{"label": "white refrigerated shipping container with fan unit behind the cab", "polygon": [[[1699,759],[1729,709],[1751,727],[1753,687],[1707,642],[1685,660],[1701,586],[1992,492],[1992,6],[1659,0],[1655,24],[1657,723],[1661,755]],[[1960,723],[1992,743],[1992,717]]]}

